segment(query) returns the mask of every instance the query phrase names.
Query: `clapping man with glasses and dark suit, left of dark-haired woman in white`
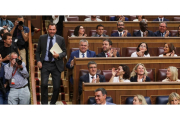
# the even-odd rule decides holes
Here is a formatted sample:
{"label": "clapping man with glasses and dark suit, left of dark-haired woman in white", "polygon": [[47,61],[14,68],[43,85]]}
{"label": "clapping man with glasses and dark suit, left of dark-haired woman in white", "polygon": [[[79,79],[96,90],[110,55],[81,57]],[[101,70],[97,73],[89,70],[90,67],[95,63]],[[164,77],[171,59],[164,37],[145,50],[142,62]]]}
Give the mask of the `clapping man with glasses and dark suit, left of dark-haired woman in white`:
{"label": "clapping man with glasses and dark suit, left of dark-haired woman in white", "polygon": [[89,73],[79,78],[79,95],[82,93],[82,82],[100,83],[106,82],[104,75],[97,74],[97,64],[94,61],[88,63]]}

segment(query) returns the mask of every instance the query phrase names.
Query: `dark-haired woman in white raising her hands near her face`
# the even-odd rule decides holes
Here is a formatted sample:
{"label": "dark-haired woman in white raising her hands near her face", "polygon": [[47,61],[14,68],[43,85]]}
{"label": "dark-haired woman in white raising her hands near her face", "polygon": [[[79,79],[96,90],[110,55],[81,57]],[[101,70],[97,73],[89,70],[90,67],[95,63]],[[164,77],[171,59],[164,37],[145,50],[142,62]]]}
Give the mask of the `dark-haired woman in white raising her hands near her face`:
{"label": "dark-haired woman in white raising her hands near her face", "polygon": [[109,82],[130,82],[130,71],[126,65],[119,65],[118,69],[112,68],[112,77]]}

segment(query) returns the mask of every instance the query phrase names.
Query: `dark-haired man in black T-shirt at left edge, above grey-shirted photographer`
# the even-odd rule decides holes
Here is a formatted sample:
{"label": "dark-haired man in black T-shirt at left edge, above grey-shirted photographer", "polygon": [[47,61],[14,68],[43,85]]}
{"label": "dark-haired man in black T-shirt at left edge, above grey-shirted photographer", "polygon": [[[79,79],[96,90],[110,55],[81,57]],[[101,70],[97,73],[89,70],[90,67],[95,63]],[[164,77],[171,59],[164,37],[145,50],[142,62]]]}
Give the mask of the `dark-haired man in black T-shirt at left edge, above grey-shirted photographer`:
{"label": "dark-haired man in black T-shirt at left edge, above grey-shirted photographer", "polygon": [[4,45],[0,47],[0,54],[2,56],[2,62],[9,63],[11,52],[16,52],[19,55],[19,50],[16,45],[12,43],[12,35],[10,33],[5,33],[2,37]]}

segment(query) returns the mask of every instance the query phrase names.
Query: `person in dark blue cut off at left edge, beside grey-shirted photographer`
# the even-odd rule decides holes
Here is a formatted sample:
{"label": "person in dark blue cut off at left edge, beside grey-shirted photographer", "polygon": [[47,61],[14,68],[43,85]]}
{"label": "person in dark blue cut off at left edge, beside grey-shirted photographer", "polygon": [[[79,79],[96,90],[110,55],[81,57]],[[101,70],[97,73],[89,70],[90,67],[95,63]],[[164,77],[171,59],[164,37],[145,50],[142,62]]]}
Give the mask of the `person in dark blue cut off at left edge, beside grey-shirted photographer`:
{"label": "person in dark blue cut off at left edge, beside grey-shirted photographer", "polygon": [[6,64],[2,63],[2,57],[0,54],[0,104],[7,104],[8,94],[9,94],[9,85],[8,81],[4,77],[4,66]]}

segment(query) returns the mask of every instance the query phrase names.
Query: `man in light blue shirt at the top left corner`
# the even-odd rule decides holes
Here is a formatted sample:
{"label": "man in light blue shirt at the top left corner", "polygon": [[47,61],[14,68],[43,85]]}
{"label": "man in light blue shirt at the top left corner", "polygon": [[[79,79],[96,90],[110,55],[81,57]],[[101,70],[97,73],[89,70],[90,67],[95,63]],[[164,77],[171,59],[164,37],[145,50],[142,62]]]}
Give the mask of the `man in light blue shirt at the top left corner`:
{"label": "man in light blue shirt at the top left corner", "polygon": [[11,29],[14,27],[14,24],[10,20],[7,20],[6,18],[7,18],[7,15],[3,15],[1,17],[1,20],[0,20],[0,30],[6,28],[9,31],[11,31]]}

